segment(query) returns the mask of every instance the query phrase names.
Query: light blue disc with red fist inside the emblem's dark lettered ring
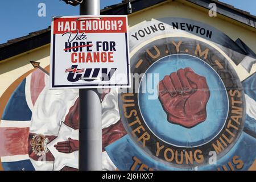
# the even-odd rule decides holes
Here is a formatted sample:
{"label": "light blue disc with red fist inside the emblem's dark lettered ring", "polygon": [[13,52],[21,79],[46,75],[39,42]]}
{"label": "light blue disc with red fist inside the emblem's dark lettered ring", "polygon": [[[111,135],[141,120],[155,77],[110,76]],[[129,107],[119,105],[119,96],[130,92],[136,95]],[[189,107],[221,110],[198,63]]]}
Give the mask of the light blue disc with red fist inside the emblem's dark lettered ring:
{"label": "light blue disc with red fist inside the emblem's dark lettered ring", "polygon": [[[170,55],[152,64],[145,75],[148,73],[159,73],[162,80],[159,99],[148,100],[149,93],[139,92],[138,101],[143,120],[156,137],[174,146],[196,147],[221,131],[228,116],[228,96],[220,76],[209,64],[191,55]],[[210,110],[218,110],[217,117]]]}

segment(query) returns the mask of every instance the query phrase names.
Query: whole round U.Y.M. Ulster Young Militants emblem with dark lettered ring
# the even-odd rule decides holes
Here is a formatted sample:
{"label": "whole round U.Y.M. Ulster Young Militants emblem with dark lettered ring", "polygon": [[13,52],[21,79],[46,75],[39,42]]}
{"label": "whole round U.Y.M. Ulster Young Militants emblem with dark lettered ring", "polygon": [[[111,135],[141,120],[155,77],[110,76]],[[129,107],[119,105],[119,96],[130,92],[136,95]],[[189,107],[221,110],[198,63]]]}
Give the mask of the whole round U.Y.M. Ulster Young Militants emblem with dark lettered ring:
{"label": "whole round U.Y.M. Ulster Young Militants emblem with dark lettered ring", "polygon": [[131,73],[142,77],[133,93],[119,94],[119,110],[148,156],[191,168],[208,164],[211,151],[220,159],[234,146],[245,98],[224,55],[195,39],[164,38],[139,49],[131,63]]}

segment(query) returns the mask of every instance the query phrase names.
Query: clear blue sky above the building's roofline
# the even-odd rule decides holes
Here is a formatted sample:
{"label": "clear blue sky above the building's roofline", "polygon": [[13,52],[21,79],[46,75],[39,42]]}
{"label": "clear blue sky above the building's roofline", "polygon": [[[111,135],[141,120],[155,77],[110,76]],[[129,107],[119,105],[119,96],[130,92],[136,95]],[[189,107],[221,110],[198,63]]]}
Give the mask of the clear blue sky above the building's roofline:
{"label": "clear blue sky above the building's roofline", "polygon": [[[101,9],[122,0],[101,0]],[[150,1],[150,0],[148,0]],[[256,15],[256,0],[221,0]],[[46,17],[38,16],[38,4],[46,4]],[[0,5],[0,44],[7,40],[25,36],[42,30],[51,24],[55,15],[78,15],[79,6],[66,5],[59,0],[1,0]]]}

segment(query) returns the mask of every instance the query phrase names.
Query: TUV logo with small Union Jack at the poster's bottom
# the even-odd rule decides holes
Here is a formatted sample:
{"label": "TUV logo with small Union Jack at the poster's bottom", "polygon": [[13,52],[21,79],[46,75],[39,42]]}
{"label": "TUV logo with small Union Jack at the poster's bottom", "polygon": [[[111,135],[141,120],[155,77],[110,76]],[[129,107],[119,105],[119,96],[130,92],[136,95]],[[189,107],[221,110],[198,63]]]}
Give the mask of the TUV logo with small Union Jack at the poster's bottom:
{"label": "TUV logo with small Union Jack at the poster's bottom", "polygon": [[[108,72],[108,68],[77,68],[78,65],[72,65],[72,67],[65,69],[65,73],[68,73],[68,81],[76,82],[83,81],[110,81],[117,68],[111,68]],[[84,73],[84,75],[83,75]]]}

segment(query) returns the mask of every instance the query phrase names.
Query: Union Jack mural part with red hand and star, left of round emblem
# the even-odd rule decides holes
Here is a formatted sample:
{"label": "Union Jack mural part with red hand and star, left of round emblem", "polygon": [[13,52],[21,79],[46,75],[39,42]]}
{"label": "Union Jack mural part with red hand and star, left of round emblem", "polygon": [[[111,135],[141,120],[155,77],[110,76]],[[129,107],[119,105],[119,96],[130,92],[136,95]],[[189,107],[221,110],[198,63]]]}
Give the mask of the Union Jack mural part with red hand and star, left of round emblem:
{"label": "Union Jack mural part with red hand and star, left of round emblem", "polygon": [[[48,78],[40,69],[31,73],[2,114],[0,154],[5,170],[78,168],[79,90],[49,90]],[[112,170],[104,147],[126,134],[115,97],[114,92],[102,96],[102,155],[104,168]]]}

